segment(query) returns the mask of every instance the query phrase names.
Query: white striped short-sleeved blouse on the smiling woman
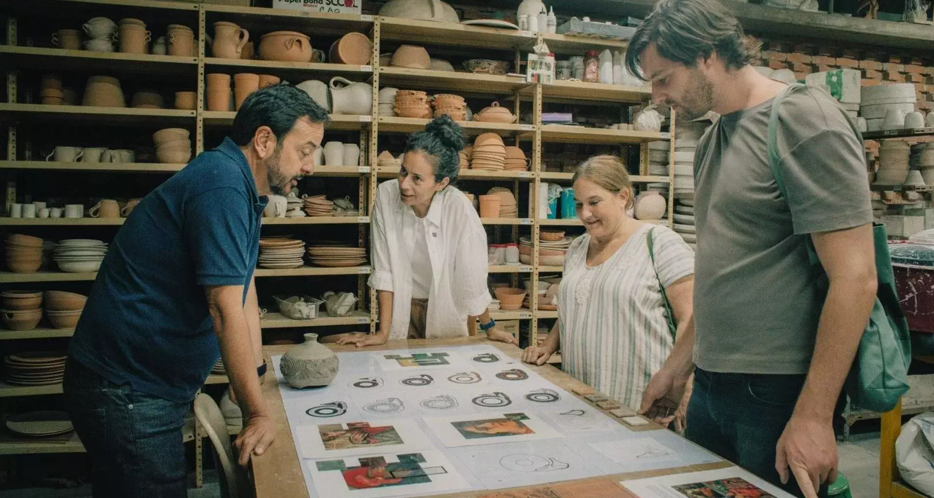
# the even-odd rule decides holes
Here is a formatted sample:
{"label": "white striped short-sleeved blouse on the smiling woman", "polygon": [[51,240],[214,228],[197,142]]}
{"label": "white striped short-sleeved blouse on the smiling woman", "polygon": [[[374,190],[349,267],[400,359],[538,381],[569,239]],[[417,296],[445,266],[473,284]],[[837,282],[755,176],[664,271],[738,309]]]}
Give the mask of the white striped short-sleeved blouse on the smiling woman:
{"label": "white striped short-sleeved blouse on the smiling woman", "polygon": [[[646,246],[654,237],[658,277]],[[590,235],[573,241],[558,292],[564,371],[637,409],[649,378],[674,346],[658,278],[668,287],[694,273],[694,251],[672,230],[645,224],[605,262],[587,266]]]}

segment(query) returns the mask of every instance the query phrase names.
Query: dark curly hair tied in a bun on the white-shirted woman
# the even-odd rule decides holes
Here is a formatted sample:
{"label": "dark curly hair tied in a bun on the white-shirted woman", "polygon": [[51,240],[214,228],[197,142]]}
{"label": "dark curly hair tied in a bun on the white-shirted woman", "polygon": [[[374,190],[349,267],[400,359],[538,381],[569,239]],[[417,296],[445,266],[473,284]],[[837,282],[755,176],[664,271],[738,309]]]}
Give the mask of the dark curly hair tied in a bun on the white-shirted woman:
{"label": "dark curly hair tied in a bun on the white-shirted woman", "polygon": [[424,132],[409,135],[404,152],[422,151],[432,161],[434,180],[450,178],[453,184],[460,171],[460,150],[464,148],[464,134],[460,124],[444,114],[429,121]]}

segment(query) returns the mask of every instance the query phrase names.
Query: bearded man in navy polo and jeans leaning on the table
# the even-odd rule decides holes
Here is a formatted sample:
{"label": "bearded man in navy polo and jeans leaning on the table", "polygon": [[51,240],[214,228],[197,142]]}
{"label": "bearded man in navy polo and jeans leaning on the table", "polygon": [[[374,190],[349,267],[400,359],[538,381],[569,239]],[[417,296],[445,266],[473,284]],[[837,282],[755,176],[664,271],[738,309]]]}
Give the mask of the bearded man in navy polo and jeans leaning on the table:
{"label": "bearded man in navy polo and jeans leaning on the table", "polygon": [[269,193],[313,172],[327,111],[301,90],[248,96],[233,134],[149,193],[120,228],[69,346],[64,395],[93,494],[185,496],[181,429],[222,357],[244,414],[241,464],[276,427],[262,399],[253,269]]}

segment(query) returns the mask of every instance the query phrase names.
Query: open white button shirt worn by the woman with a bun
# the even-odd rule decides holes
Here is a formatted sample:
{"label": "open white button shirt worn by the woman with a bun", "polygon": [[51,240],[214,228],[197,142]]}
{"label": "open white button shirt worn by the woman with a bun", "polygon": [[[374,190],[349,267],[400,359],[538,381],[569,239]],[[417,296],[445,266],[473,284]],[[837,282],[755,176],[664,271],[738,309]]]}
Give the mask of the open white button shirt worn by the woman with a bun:
{"label": "open white button shirt worn by the woman with a bun", "polygon": [[[399,180],[376,188],[368,285],[392,292],[389,339],[408,336],[412,306],[412,253],[417,217],[400,199]],[[487,289],[487,233],[474,206],[454,187],[434,194],[424,222],[432,263],[427,338],[467,335],[467,317],[483,314],[492,298]]]}

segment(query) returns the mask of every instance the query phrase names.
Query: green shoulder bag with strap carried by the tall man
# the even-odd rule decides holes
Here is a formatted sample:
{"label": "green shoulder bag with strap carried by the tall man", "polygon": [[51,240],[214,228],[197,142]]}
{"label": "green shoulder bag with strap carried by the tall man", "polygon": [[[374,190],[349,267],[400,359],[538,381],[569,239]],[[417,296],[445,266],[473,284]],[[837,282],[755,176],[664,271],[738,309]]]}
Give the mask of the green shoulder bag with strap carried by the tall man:
{"label": "green shoulder bag with strap carried by the tall man", "polygon": [[[775,97],[769,117],[769,164],[778,190],[785,199],[788,195],[782,172],[779,170],[781,155],[776,136],[778,106],[785,98],[785,93],[798,86],[800,83],[789,85]],[[872,223],[872,238],[879,287],[869,324],[859,340],[856,359],[843,383],[843,391],[850,396],[854,405],[884,412],[894,408],[901,395],[908,391],[907,377],[908,366],[912,361],[912,345],[908,321],[901,312],[899,296],[895,290],[895,275],[892,271],[884,224]],[[812,269],[820,275],[817,285],[826,293],[828,277],[821,266],[820,258],[817,257],[814,241],[807,236],[804,243],[808,249],[808,260]]]}

